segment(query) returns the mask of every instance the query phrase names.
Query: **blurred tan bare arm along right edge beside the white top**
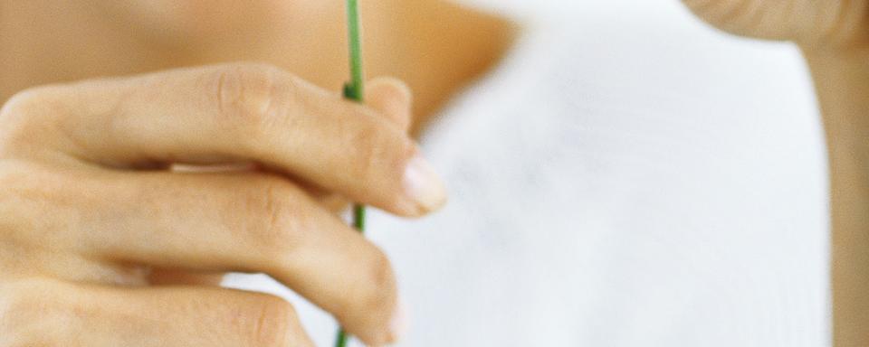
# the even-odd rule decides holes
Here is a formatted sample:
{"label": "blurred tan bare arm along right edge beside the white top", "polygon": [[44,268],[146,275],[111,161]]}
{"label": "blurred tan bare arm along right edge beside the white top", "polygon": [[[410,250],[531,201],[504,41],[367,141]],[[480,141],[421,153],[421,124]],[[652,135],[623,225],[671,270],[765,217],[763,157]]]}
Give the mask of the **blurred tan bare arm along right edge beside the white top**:
{"label": "blurred tan bare arm along right edge beside the white top", "polygon": [[833,339],[869,345],[869,49],[804,52],[824,115],[832,209]]}

